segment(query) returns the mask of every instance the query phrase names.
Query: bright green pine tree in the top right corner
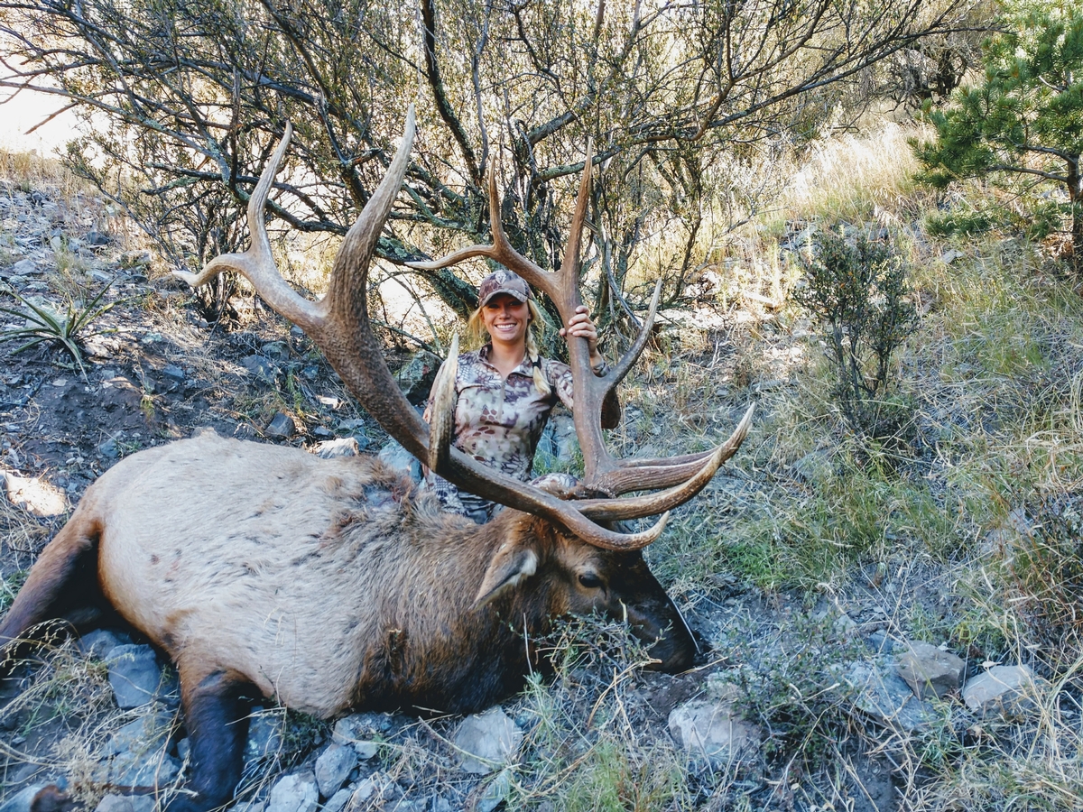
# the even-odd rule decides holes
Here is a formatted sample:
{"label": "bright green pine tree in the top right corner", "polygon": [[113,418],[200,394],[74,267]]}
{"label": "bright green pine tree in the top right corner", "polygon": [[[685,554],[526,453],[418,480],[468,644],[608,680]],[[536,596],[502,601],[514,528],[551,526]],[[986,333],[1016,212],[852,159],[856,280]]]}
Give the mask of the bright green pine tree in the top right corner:
{"label": "bright green pine tree in the top right corner", "polygon": [[[986,41],[984,76],[928,107],[937,131],[914,144],[922,179],[947,186],[990,172],[1036,179],[1067,191],[1077,272],[1083,270],[1083,9],[1073,0],[1016,0],[1004,28]],[[1047,217],[1047,213],[1046,213]]]}

